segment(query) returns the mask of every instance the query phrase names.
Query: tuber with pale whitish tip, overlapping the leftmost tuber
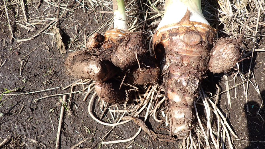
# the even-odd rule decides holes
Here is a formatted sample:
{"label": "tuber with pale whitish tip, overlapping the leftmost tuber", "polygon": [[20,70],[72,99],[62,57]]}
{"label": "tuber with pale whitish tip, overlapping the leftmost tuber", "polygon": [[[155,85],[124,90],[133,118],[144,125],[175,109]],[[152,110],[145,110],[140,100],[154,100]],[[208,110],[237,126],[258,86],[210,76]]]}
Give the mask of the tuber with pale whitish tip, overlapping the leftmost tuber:
{"label": "tuber with pale whitish tip, overlapping the leftmost tuber", "polygon": [[107,81],[117,73],[116,67],[108,62],[96,58],[90,59],[88,63],[88,73],[93,80]]}

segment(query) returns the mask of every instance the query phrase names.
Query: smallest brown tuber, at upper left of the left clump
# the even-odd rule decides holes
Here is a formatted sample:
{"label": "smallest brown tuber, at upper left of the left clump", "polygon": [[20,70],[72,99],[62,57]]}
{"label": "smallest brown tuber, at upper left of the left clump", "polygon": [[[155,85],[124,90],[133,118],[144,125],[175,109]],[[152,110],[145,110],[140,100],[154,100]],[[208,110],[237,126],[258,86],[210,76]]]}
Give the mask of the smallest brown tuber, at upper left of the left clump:
{"label": "smallest brown tuber, at upper left of the left clump", "polygon": [[100,43],[104,41],[104,36],[98,33],[94,33],[88,39],[86,47],[89,48],[100,48]]}

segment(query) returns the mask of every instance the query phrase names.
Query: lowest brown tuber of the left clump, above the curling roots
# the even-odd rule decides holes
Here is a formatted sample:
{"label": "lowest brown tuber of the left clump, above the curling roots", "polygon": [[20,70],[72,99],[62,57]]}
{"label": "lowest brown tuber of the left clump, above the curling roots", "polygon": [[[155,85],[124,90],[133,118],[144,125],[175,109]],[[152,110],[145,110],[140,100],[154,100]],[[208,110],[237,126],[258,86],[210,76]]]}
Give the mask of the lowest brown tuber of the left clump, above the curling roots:
{"label": "lowest brown tuber of the left clump, above the curling roots", "polygon": [[96,81],[95,90],[97,95],[105,102],[118,104],[126,99],[124,88],[116,81],[101,82]]}

